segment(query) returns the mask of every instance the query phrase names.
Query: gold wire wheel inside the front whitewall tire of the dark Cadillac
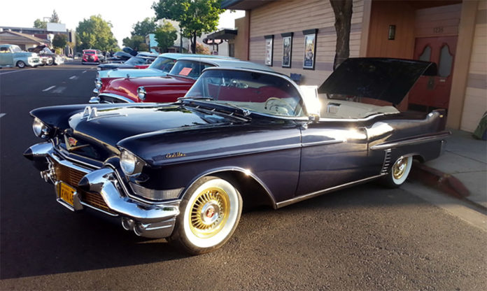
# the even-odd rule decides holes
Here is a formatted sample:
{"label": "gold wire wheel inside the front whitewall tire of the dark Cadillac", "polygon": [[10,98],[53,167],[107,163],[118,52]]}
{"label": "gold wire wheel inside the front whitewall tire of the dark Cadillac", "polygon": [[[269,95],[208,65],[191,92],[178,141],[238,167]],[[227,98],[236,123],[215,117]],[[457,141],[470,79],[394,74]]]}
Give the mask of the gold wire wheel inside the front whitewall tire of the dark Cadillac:
{"label": "gold wire wheel inside the front whitewall tire of the dark Cadillac", "polygon": [[199,193],[191,205],[190,229],[195,236],[206,239],[225,226],[230,215],[230,197],[225,190],[212,187]]}

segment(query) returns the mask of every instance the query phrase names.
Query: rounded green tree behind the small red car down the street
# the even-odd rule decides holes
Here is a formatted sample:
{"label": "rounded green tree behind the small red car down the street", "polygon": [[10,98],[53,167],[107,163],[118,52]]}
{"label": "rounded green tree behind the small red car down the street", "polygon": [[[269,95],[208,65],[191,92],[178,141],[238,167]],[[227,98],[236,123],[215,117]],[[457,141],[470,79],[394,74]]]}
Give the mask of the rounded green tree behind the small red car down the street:
{"label": "rounded green tree behind the small red car down the street", "polygon": [[117,40],[111,31],[112,24],[100,15],[83,19],[76,27],[78,49],[97,48],[99,50],[118,50]]}

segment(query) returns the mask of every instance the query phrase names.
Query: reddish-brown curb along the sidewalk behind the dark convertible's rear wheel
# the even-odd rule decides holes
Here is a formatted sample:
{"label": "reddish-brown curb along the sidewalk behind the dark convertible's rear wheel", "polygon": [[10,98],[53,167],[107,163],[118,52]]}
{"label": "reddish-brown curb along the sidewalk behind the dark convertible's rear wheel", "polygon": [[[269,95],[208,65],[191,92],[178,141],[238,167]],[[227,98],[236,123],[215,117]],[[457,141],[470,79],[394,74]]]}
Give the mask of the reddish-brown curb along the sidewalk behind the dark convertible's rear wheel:
{"label": "reddish-brown curb along the sidewalk behind the dark convertible's rear wheel", "polygon": [[470,191],[458,178],[451,176],[449,173],[443,173],[417,161],[414,161],[413,168],[414,171],[409,173],[412,179],[430,187],[435,187],[446,194],[467,201],[479,208],[487,209],[485,206],[467,199],[470,196]]}

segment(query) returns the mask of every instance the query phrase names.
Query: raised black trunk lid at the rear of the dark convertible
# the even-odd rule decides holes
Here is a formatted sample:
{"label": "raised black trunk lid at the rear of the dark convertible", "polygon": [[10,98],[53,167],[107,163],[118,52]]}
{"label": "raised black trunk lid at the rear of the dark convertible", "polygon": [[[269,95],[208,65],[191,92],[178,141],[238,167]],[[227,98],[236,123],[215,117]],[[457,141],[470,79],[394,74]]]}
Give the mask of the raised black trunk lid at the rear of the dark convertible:
{"label": "raised black trunk lid at the rear of the dark convertible", "polygon": [[320,94],[344,94],[400,104],[421,75],[435,76],[432,62],[409,59],[349,58],[318,88]]}

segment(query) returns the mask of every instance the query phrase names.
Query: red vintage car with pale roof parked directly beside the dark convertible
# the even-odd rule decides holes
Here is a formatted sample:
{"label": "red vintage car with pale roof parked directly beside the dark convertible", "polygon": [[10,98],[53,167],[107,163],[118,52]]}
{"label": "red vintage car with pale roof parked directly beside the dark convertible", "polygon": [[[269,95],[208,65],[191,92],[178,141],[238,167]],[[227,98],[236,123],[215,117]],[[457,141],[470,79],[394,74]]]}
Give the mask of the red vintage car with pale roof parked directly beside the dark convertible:
{"label": "red vintage car with pale roof parked directly beside the dark convertible", "polygon": [[90,103],[174,102],[178,97],[183,97],[202,71],[210,66],[244,66],[272,71],[269,66],[241,62],[236,59],[183,57],[178,59],[165,77],[111,79],[105,85],[101,85],[100,89],[95,87],[93,92],[99,94],[92,97]]}

